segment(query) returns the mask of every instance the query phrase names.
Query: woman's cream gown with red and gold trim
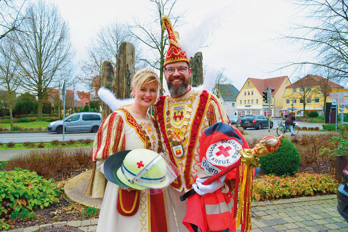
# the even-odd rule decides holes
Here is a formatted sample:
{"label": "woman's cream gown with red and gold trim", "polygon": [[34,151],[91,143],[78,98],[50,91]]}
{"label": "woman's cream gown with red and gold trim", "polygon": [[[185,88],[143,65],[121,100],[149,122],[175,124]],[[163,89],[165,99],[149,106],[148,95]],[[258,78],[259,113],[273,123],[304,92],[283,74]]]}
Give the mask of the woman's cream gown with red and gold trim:
{"label": "woman's cream gown with red and gold trim", "polygon": [[[174,213],[167,191],[160,194],[147,194],[139,191],[139,208],[136,211],[136,194],[127,197],[127,190],[122,191],[119,197],[120,186],[105,179],[103,163],[105,159],[117,152],[137,148],[151,149],[161,152],[161,140],[155,128],[154,118],[135,118],[127,107],[120,108],[110,114],[101,124],[93,144],[93,173],[89,181],[86,195],[93,198],[102,198],[97,232],[176,232]],[[142,126],[149,136],[151,147],[146,143]],[[135,191],[135,190],[133,190]],[[128,194],[129,195],[129,194]],[[134,204],[133,204],[134,203]],[[120,207],[122,205],[122,207]],[[127,208],[127,209],[126,209]],[[132,211],[132,208],[135,208]],[[122,211],[123,216],[119,213]]]}

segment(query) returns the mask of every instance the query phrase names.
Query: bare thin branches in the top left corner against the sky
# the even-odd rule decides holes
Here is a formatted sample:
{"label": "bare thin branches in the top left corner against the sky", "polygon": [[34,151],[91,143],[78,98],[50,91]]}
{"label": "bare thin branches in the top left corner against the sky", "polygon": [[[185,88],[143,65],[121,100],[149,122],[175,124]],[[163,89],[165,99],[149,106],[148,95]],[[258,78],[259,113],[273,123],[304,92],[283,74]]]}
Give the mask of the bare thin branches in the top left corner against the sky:
{"label": "bare thin branches in the top left corner against the sky", "polygon": [[24,19],[20,11],[26,0],[0,0],[0,39],[11,31],[18,31],[18,26]]}

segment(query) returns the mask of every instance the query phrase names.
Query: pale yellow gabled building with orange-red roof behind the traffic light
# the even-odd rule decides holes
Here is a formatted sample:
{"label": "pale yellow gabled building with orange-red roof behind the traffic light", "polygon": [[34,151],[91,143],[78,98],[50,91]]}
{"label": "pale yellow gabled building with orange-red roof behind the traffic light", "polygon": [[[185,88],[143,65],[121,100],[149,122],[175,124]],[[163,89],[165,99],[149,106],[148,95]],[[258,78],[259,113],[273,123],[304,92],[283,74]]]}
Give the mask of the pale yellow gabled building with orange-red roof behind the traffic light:
{"label": "pale yellow gabled building with orange-red roof behind the traffic light", "polygon": [[263,102],[262,92],[270,87],[272,89],[270,116],[280,117],[283,108],[283,93],[289,84],[291,82],[287,76],[267,79],[248,78],[236,97],[238,115],[262,114],[267,116],[268,103]]}

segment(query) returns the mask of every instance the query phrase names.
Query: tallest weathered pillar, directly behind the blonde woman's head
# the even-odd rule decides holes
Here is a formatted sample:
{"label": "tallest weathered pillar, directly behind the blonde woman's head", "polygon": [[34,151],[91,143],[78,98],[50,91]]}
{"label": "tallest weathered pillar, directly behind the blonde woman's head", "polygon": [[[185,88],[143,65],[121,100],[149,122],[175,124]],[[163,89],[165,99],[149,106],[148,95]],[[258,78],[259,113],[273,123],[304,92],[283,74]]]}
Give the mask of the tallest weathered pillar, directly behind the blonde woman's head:
{"label": "tallest weathered pillar, directly behind the blonde woman's head", "polygon": [[135,74],[135,48],[131,43],[121,43],[118,50],[117,76],[115,90],[118,98],[129,98],[132,78]]}

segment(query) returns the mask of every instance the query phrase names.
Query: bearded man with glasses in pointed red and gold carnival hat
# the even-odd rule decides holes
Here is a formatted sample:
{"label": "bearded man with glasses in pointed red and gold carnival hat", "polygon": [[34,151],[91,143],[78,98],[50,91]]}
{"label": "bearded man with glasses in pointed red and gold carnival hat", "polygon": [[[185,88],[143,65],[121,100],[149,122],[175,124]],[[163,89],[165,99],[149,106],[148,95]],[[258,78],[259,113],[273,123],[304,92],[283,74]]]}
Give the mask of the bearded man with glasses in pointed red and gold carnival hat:
{"label": "bearded man with glasses in pointed red and gold carnival hat", "polygon": [[[172,204],[177,217],[179,231],[188,231],[182,224],[186,214],[186,202],[180,195],[192,189],[196,173],[200,169],[199,138],[202,132],[217,122],[230,124],[220,101],[214,94],[198,91],[189,85],[191,68],[185,52],[180,48],[168,16],[162,18],[163,29],[169,35],[169,49],[164,63],[164,75],[171,96],[162,96],[156,104],[155,118],[159,124],[164,153],[180,170],[180,175],[169,188]],[[237,128],[235,135],[240,138],[241,148],[248,144]],[[234,172],[234,176],[236,173]],[[199,181],[199,180],[198,180]],[[199,194],[204,195],[220,189],[224,183],[215,181],[206,186],[196,183]]]}

